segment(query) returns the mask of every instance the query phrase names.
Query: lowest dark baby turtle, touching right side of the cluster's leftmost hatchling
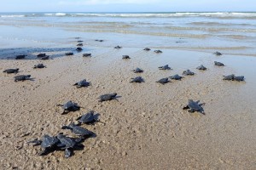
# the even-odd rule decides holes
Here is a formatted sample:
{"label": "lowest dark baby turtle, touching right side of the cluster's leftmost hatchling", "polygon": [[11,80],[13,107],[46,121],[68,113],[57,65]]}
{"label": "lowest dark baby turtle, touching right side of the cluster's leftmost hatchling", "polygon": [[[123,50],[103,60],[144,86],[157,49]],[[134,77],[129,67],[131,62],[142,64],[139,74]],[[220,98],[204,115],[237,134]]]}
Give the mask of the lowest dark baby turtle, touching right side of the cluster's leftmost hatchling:
{"label": "lowest dark baby turtle, touching right side of the cluster's leftmost hatchling", "polygon": [[73,149],[75,146],[84,146],[83,144],[79,144],[79,142],[82,141],[81,138],[79,139],[73,139],[73,138],[69,138],[66,135],[64,135],[63,133],[59,133],[57,135],[57,139],[60,140],[60,143],[57,144],[58,147],[60,147],[61,149],[65,149],[65,157],[68,158],[71,156],[71,150]]}

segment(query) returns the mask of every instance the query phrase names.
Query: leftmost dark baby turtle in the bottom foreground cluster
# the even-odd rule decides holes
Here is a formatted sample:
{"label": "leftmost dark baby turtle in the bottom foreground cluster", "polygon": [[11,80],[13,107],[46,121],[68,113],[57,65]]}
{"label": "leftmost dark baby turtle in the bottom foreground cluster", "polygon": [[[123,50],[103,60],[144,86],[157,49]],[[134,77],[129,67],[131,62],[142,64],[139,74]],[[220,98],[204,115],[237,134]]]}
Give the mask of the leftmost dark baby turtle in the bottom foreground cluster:
{"label": "leftmost dark baby turtle in the bottom foreground cluster", "polygon": [[40,151],[38,155],[43,156],[47,151],[54,148],[58,142],[59,139],[57,139],[55,136],[49,136],[48,134],[45,134],[42,140],[35,139],[27,142],[27,144],[41,144],[43,150]]}

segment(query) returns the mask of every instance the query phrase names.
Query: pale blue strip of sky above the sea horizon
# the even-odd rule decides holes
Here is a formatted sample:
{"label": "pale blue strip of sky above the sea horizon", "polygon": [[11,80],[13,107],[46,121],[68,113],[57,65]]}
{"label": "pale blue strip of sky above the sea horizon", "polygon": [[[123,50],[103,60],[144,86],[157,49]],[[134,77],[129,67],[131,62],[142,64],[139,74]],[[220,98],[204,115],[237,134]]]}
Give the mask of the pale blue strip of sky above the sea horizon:
{"label": "pale blue strip of sky above the sea horizon", "polygon": [[256,0],[0,0],[4,12],[256,12]]}

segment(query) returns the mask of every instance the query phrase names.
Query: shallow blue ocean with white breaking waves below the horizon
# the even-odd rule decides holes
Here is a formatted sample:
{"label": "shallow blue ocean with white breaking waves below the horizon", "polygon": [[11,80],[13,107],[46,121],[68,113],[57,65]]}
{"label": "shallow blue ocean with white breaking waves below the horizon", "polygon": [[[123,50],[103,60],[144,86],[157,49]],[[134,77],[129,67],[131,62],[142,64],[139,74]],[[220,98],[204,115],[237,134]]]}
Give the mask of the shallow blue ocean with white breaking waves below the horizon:
{"label": "shallow blue ocean with white breaking waves below the horizon", "polygon": [[0,28],[6,39],[58,42],[84,36],[108,39],[108,47],[123,43],[256,56],[254,12],[2,13]]}

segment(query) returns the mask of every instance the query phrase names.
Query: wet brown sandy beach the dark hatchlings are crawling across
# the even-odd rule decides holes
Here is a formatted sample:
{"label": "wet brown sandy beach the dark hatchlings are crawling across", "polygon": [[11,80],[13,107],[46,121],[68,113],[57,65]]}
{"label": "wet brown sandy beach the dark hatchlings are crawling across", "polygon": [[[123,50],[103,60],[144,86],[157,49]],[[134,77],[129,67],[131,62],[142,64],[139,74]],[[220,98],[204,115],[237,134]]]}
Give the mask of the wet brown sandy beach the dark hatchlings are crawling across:
{"label": "wet brown sandy beach the dark hatchlings are crawling across", "polygon": [[[72,43],[75,47],[75,40]],[[47,52],[56,57],[43,61],[47,68],[40,70],[32,69],[41,62],[35,49],[29,51],[31,59],[1,59],[1,71],[17,67],[18,75],[31,74],[35,80],[14,82],[14,75],[1,73],[0,169],[255,169],[255,59],[142,49],[90,47],[92,57],[83,58],[82,53],[63,56],[67,52],[63,48]],[[20,53],[22,48],[1,52],[7,57]],[[131,59],[121,59],[123,54]],[[214,60],[227,66],[214,66]],[[239,66],[245,63],[246,71]],[[165,64],[173,70],[159,71],[157,67]],[[197,71],[201,64],[208,70]],[[131,72],[136,67],[144,72]],[[166,85],[155,82],[186,69],[195,71],[195,76]],[[224,82],[222,76],[230,73],[245,75],[247,82]],[[129,83],[137,76],[145,82]],[[90,87],[72,86],[84,78]],[[97,101],[108,93],[121,97]],[[84,108],[61,115],[55,105],[69,99]],[[206,103],[206,115],[183,111],[188,99]],[[60,150],[38,156],[40,147],[26,144],[44,134],[72,135],[61,126],[90,110],[100,113],[106,124],[83,125],[96,137],[86,139],[84,150],[75,150],[70,158]]]}

